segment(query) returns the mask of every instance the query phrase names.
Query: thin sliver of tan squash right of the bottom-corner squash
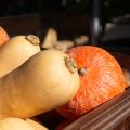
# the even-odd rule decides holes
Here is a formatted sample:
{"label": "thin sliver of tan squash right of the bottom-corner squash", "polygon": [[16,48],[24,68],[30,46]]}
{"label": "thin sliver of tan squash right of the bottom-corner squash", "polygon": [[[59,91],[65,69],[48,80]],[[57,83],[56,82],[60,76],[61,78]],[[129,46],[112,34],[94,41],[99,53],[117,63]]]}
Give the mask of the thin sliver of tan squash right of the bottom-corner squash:
{"label": "thin sliver of tan squash right of the bottom-corner squash", "polygon": [[30,123],[35,130],[49,130],[47,127],[42,126],[40,122],[37,122],[32,119],[26,119],[28,123]]}

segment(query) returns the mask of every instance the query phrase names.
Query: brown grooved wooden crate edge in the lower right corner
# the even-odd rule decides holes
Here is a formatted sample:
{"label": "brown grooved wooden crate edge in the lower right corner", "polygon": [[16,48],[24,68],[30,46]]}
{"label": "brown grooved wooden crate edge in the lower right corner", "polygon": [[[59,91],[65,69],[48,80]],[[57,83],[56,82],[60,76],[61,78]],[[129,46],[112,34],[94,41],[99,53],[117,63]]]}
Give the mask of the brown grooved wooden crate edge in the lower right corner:
{"label": "brown grooved wooden crate edge in the lower right corner", "polygon": [[130,89],[80,117],[64,130],[113,130],[130,116]]}

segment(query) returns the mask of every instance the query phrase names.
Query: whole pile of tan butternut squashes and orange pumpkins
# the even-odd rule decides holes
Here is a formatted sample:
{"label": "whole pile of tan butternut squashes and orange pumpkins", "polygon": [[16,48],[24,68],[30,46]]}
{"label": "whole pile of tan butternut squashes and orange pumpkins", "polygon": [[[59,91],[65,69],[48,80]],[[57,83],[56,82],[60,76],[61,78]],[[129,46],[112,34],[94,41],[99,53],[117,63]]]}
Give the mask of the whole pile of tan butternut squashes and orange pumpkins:
{"label": "whole pile of tan butternut squashes and orange pumpkins", "polygon": [[47,130],[30,118],[55,109],[72,121],[125,91],[107,51],[69,43],[62,51],[47,39],[41,46],[34,35],[9,38],[0,29],[0,130]]}

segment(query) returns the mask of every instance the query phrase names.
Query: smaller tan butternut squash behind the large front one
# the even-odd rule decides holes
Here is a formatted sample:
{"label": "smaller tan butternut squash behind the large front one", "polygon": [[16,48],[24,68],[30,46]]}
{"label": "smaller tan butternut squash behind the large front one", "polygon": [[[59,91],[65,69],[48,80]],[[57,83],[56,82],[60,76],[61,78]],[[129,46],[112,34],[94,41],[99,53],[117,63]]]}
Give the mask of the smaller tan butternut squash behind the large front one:
{"label": "smaller tan butternut squash behind the large front one", "polygon": [[15,36],[0,47],[0,77],[15,69],[40,51],[39,39],[32,35],[29,36],[31,40],[27,40],[26,36]]}

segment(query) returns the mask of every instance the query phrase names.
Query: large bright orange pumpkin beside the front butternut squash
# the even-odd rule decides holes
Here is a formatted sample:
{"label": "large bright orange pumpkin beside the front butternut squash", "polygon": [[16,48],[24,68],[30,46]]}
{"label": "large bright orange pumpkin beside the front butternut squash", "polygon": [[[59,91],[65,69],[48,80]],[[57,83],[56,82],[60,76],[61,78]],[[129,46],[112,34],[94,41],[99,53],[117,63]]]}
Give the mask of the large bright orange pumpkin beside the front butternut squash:
{"label": "large bright orange pumpkin beside the front butternut squash", "polygon": [[76,61],[78,70],[86,68],[87,72],[80,75],[80,88],[75,98],[57,109],[64,117],[78,118],[125,91],[122,70],[105,50],[81,46],[70,49],[68,55]]}

